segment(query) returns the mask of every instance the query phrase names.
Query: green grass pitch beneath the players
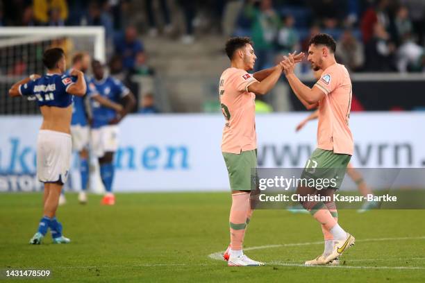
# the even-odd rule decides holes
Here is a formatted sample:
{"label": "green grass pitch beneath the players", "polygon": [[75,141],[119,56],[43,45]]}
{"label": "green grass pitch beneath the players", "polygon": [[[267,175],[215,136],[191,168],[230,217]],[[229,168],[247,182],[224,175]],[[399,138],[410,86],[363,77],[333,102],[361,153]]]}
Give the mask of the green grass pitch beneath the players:
{"label": "green grass pitch beneath the players", "polygon": [[[72,243],[53,245],[48,235],[31,246],[41,200],[0,194],[0,269],[49,269],[47,282],[425,282],[425,210],[340,211],[357,240],[342,268],[294,266],[319,255],[322,244],[247,250],[267,266],[228,268],[208,255],[228,244],[229,194],[118,194],[113,207],[101,206],[100,196],[78,205],[68,194],[58,218]],[[399,237],[410,239],[371,240]],[[322,231],[311,216],[259,210],[245,248],[317,241]]]}

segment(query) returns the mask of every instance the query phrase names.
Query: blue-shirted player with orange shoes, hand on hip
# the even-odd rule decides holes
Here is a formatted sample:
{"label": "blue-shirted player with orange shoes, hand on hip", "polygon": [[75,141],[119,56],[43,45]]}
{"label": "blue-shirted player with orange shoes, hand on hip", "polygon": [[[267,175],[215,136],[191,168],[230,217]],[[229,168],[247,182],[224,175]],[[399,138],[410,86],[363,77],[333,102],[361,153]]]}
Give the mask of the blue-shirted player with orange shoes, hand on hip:
{"label": "blue-shirted player with orange shoes, hand on hip", "polygon": [[93,61],[92,70],[94,79],[90,83],[94,84],[97,92],[115,103],[121,101],[124,103],[124,109],[117,114],[117,112],[100,105],[97,101],[92,101],[92,145],[94,154],[99,157],[101,179],[106,189],[102,203],[103,205],[114,205],[115,196],[112,192],[113,157],[118,148],[117,124],[134,108],[135,98],[119,80],[105,76],[103,66],[99,61]]}

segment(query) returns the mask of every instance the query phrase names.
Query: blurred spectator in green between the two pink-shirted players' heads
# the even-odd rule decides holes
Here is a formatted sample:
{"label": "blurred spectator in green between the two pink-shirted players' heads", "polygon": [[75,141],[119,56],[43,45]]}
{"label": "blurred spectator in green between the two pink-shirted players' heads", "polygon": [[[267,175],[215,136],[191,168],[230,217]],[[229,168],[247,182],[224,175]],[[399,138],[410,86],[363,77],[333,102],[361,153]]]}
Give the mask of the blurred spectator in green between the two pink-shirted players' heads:
{"label": "blurred spectator in green between the two pink-shirted players' heads", "polygon": [[252,40],[256,49],[256,69],[264,69],[273,62],[273,44],[280,26],[280,18],[273,9],[272,0],[262,0],[260,8],[251,6],[253,18]]}

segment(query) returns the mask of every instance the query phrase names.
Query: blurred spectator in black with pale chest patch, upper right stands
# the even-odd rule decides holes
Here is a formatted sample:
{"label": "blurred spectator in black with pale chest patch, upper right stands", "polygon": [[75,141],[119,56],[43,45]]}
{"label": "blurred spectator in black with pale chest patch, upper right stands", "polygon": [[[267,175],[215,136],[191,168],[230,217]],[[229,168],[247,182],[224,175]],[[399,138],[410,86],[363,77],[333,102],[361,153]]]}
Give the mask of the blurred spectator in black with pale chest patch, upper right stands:
{"label": "blurred spectator in black with pale chest patch, upper right stands", "polygon": [[380,22],[374,25],[374,35],[366,46],[366,71],[394,71],[395,46],[390,42],[390,34]]}

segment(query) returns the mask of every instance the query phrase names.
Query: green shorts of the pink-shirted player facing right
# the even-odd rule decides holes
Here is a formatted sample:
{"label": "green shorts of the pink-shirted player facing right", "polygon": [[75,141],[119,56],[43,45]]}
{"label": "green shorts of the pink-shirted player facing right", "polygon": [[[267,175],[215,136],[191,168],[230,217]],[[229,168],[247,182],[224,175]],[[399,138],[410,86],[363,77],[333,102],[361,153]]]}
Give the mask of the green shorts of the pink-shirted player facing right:
{"label": "green shorts of the pink-shirted player facing right", "polygon": [[[251,191],[255,189],[253,169],[257,167],[257,150],[242,151],[240,154],[223,153],[232,191]],[[254,175],[255,176],[255,175]]]}

